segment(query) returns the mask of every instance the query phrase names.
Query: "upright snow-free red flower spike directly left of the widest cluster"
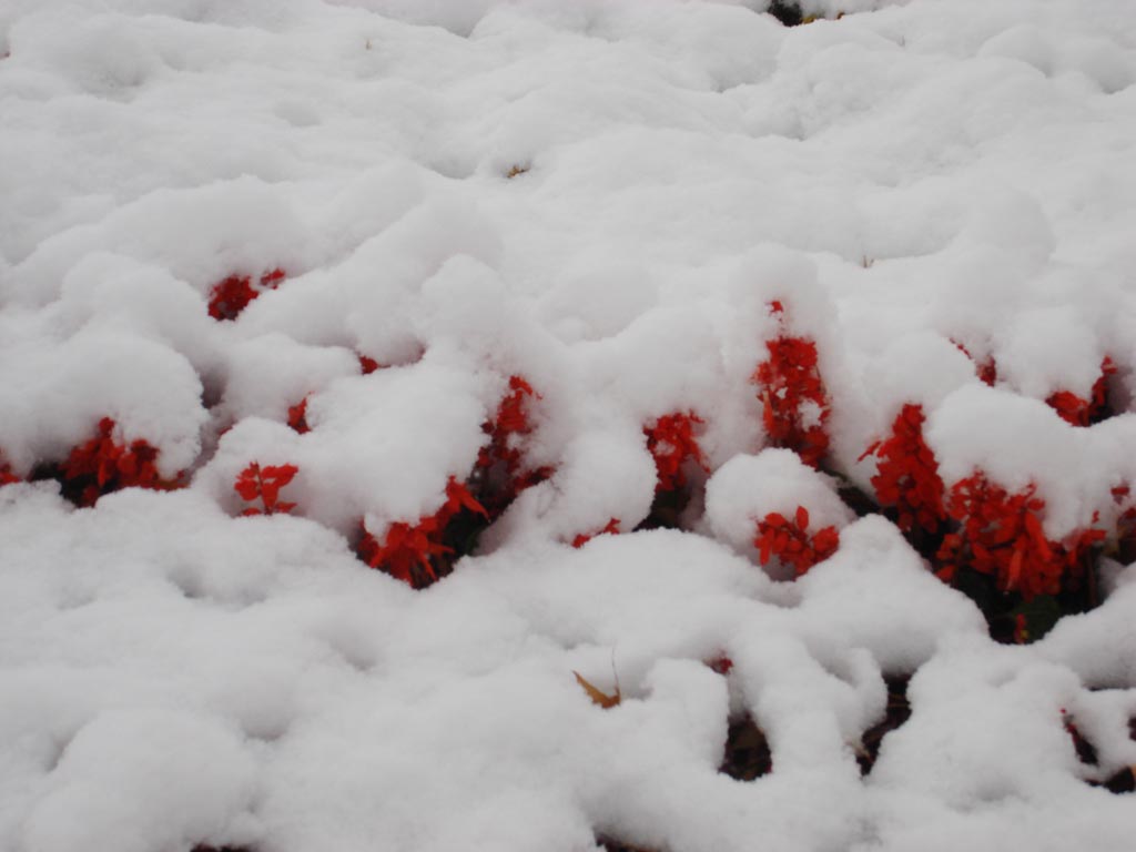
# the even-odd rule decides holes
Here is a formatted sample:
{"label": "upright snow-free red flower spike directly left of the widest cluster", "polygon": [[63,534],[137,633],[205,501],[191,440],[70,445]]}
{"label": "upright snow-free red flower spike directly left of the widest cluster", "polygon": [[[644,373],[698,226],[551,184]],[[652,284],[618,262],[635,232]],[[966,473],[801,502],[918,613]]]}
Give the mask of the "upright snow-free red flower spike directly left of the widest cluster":
{"label": "upright snow-free red flower spike directly left of the widest cluster", "polygon": [[869,446],[860,458],[879,459],[871,486],[880,506],[897,510],[900,529],[910,533],[918,524],[934,535],[946,520],[945,488],[935,453],[924,441],[925,420],[922,406],[905,404],[892,424],[892,436]]}

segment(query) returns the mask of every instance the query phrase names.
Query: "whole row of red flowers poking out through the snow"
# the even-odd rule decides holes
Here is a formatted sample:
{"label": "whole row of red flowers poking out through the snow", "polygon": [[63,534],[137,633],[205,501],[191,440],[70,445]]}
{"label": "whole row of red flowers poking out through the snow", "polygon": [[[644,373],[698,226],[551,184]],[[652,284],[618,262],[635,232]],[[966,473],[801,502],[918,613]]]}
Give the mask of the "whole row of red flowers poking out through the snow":
{"label": "whole row of red flowers poking out through the snow", "polygon": [[[231,276],[214,287],[209,312],[218,321],[232,320],[284,278],[279,269],[260,276],[258,285],[251,277]],[[804,465],[825,470],[830,463],[832,403],[817,344],[794,329],[783,302],[769,302],[768,310],[776,332],[766,341],[765,357],[751,375],[767,445],[792,450]],[[360,357],[362,373],[379,368],[373,359]],[[992,360],[977,365],[976,371],[984,382],[997,379]],[[1088,398],[1062,391],[1046,401],[1074,426],[1099,423],[1110,414],[1108,381],[1114,371],[1106,358]],[[526,443],[535,428],[533,407],[540,400],[525,376],[511,376],[483,426],[484,443],[468,476],[463,481],[451,477],[441,506],[429,515],[398,520],[382,531],[368,529],[360,521],[359,558],[415,587],[449,574],[454,561],[476,546],[479,533],[521,492],[554,475],[554,468],[533,466],[526,459]],[[307,398],[290,408],[287,423],[300,434],[309,431]],[[1120,556],[1136,550],[1136,503],[1128,486],[1113,490],[1116,528],[1102,528],[1094,517],[1092,526],[1053,541],[1043,527],[1045,498],[1035,485],[1010,491],[982,469],[944,482],[924,437],[925,423],[921,404],[903,404],[889,434],[861,457],[876,463],[870,481],[872,511],[889,517],[936,575],[978,601],[992,626],[1000,625],[996,632],[1009,638],[1036,637],[1055,618],[1053,605],[1047,615],[1037,615],[1045,609],[1035,605],[1038,599],[1049,599],[1058,613],[1095,605],[1094,563],[1102,548],[1108,544]],[[665,412],[644,425],[643,440],[654,460],[657,481],[651,513],[637,528],[678,526],[695,490],[693,474],[699,473],[694,478],[700,485],[711,473],[700,446],[704,426],[703,415],[693,410]],[[157,458],[158,451],[144,440],[123,442],[116,423],[103,418],[90,440],[76,445],[66,459],[41,465],[31,478],[57,479],[62,494],[80,507],[93,506],[101,495],[120,488],[169,490],[187,484],[184,474],[162,479]],[[298,471],[295,465],[261,467],[250,461],[234,483],[249,503],[243,513],[293,511],[296,503],[281,495]],[[0,485],[18,481],[0,457]],[[777,562],[800,576],[837,551],[838,529],[812,525],[813,508],[797,506],[752,519],[752,544],[762,565]],[[596,535],[620,532],[629,531],[621,519],[611,518],[601,528],[579,531],[568,543],[579,548]]]}

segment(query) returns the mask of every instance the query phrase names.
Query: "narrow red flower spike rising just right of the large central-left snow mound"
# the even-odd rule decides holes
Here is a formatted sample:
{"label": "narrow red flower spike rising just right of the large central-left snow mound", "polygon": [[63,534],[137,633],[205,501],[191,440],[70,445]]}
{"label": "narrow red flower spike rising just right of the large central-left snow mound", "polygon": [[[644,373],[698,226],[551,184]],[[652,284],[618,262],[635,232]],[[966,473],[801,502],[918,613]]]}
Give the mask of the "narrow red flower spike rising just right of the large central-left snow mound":
{"label": "narrow red flower spike rising just right of the large central-left snow mound", "polygon": [[533,433],[529,404],[541,394],[521,376],[509,377],[509,392],[498,406],[493,419],[482,426],[490,441],[477,456],[481,477],[486,483],[484,500],[492,517],[498,517],[525,488],[544,482],[552,469],[526,469],[520,446]]}

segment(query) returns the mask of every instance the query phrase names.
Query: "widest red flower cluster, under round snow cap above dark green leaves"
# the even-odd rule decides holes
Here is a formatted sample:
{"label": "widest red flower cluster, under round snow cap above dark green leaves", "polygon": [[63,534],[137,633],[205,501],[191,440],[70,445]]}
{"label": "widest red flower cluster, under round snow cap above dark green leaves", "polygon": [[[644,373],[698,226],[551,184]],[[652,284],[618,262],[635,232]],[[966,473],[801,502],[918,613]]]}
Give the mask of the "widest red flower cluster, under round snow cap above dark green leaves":
{"label": "widest red flower cluster, under round snow cap above dark green leaves", "polygon": [[1049,541],[1041,521],[1045,501],[1036,487],[1010,494],[982,471],[954,484],[947,510],[961,526],[943,540],[938,576],[951,582],[967,565],[1027,601],[1058,594],[1064,574],[1079,574],[1088,549],[1104,538],[1103,531],[1085,529],[1068,544]]}

